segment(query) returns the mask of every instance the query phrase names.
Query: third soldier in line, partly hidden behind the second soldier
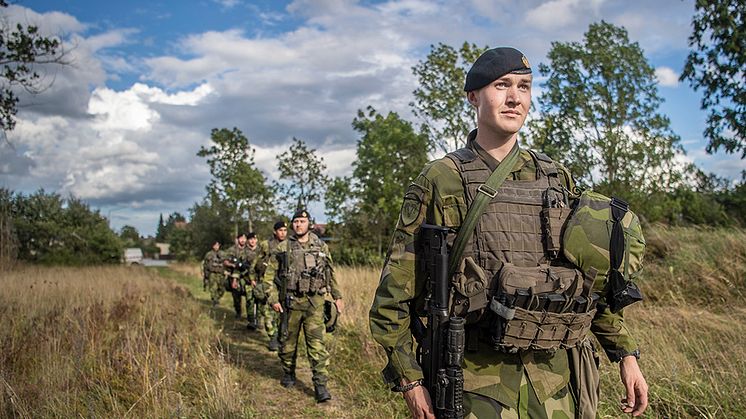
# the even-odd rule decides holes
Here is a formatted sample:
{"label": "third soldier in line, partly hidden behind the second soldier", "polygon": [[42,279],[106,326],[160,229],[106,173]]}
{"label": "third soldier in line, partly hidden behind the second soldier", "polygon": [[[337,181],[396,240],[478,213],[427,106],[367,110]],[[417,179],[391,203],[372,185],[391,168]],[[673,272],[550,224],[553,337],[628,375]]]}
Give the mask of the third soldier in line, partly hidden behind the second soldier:
{"label": "third soldier in line, partly hidden behind the second soldier", "polygon": [[275,292],[279,290],[280,278],[275,276],[272,284],[266,284],[262,281],[264,273],[267,270],[267,265],[271,259],[277,257],[277,248],[280,243],[284,242],[288,235],[288,227],[285,221],[278,221],[273,226],[272,237],[269,240],[263,241],[259,244],[259,257],[257,261],[257,286],[255,288],[255,296],[259,304],[259,313],[261,321],[264,324],[264,331],[267,332],[269,338],[268,348],[271,352],[276,352],[280,347],[280,342],[277,337],[277,330],[279,326],[279,316],[274,310],[267,304],[267,287],[274,288]]}

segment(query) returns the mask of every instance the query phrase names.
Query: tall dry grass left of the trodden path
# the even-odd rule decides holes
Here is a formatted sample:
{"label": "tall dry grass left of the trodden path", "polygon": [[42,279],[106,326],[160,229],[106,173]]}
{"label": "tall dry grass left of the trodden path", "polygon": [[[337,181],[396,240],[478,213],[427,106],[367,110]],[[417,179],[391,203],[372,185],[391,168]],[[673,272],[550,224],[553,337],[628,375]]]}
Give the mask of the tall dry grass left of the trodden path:
{"label": "tall dry grass left of the trodden path", "polygon": [[0,416],[250,416],[188,292],[142,269],[0,279]]}

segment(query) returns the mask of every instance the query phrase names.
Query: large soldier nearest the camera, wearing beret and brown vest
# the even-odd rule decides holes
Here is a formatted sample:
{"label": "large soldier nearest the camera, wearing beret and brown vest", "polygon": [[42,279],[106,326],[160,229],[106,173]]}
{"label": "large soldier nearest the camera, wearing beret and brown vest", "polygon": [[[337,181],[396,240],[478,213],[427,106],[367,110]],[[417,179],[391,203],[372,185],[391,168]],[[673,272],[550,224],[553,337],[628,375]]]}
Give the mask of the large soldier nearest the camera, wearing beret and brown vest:
{"label": "large soldier nearest the camera, wearing beret and brown vest", "polygon": [[[576,412],[580,416],[578,408],[585,408],[594,395],[595,403],[598,398],[597,372],[596,380],[584,382],[582,389],[570,385],[571,354],[586,359],[580,364],[581,374],[574,377],[594,372],[595,352],[586,339],[589,329],[609,359],[619,363],[626,389],[622,411],[639,416],[647,407],[638,346],[622,313],[612,313],[600,303],[595,306],[593,278],[587,281],[547,245],[542,211],[552,206],[562,212],[568,196],[577,190],[564,167],[518,147],[518,131],[531,104],[531,83],[531,68],[519,51],[495,48],[482,54],[467,73],[464,87],[476,110],[477,129],[469,134],[465,148],[429,163],[404,196],[370,310],[370,328],[388,356],[384,380],[403,393],[414,417],[433,418],[436,411],[440,417],[571,418]],[[504,175],[502,186],[486,185],[493,172]],[[472,222],[466,214],[475,201],[485,205]],[[464,225],[469,225],[464,228],[466,238],[456,244]],[[423,234],[433,231],[428,237]],[[430,248],[442,252],[431,257]],[[449,259],[446,251],[460,257]],[[444,289],[433,290],[432,283],[426,283],[424,272],[430,270],[445,278]],[[423,378],[435,382],[435,372],[425,370],[423,376],[413,350],[413,333],[421,339],[420,317],[434,309],[440,309],[443,318],[453,316],[448,333],[460,337],[447,339],[448,356],[455,360],[449,367],[453,374],[449,369],[436,377],[454,387],[463,384],[463,401],[451,400],[456,409],[450,412],[433,402],[440,403],[454,387],[429,393]],[[523,321],[526,330],[512,327],[511,321],[519,316],[534,316]],[[564,323],[545,324],[543,317]],[[431,320],[438,317],[428,316]],[[552,334],[562,327],[562,333]],[[428,347],[428,341],[420,343],[422,358],[446,351]],[[586,412],[593,413],[583,417],[595,415],[593,408]]]}

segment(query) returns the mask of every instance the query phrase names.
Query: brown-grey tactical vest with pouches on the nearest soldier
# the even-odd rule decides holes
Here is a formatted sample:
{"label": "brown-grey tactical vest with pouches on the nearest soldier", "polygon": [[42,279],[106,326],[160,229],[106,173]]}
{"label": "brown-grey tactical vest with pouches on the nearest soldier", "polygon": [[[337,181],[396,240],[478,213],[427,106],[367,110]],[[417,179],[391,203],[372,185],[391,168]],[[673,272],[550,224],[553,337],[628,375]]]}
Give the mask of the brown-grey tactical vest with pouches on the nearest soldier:
{"label": "brown-grey tactical vest with pouches on the nearest soldier", "polygon": [[[536,180],[506,180],[477,221],[451,278],[451,312],[478,324],[500,351],[577,345],[595,314],[592,278],[559,258],[569,198],[555,163],[530,152]],[[471,205],[491,174],[474,151],[447,155]]]}

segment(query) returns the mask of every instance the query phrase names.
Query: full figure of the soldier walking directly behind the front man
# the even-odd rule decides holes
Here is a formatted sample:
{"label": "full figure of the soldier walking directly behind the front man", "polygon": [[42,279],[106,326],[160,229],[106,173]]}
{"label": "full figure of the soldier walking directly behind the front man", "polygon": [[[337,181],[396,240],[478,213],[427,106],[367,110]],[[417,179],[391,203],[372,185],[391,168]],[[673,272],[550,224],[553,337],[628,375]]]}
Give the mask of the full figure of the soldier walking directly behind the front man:
{"label": "full figure of the soldier walking directly behind the front man", "polygon": [[295,385],[298,338],[303,328],[308,360],[313,371],[316,402],[322,403],[332,398],[326,388],[329,354],[324,345],[324,297],[331,293],[339,313],[344,309],[344,304],[334,278],[329,249],[310,231],[309,218],[305,210],[293,215],[293,234],[278,245],[278,257],[270,259],[264,283],[271,283],[275,273],[282,280],[279,293],[274,287],[268,288],[268,302],[282,317],[279,355],[283,376],[280,384],[283,387]]}

